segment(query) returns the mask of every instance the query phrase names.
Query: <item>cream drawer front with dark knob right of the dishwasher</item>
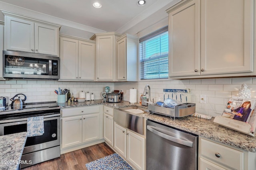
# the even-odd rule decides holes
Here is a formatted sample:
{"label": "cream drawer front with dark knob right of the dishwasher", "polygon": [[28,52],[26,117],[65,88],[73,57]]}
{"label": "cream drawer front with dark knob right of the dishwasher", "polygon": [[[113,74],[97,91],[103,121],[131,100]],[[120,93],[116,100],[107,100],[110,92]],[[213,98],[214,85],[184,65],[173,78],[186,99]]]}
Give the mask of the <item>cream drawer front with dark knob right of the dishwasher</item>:
{"label": "cream drawer front with dark knob right of the dishwasher", "polygon": [[[237,170],[244,169],[244,152],[242,151],[206,139],[200,139],[200,148],[201,156],[208,157]],[[217,157],[216,154],[219,154],[220,156]]]}

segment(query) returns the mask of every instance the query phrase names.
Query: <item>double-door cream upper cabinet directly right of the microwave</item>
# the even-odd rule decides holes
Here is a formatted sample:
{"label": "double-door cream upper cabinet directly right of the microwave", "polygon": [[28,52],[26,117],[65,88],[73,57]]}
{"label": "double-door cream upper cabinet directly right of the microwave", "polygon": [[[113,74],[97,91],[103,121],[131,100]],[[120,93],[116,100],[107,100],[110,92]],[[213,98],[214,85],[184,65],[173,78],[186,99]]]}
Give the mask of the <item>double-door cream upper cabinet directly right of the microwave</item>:
{"label": "double-door cream upper cabinet directly right of the microwave", "polygon": [[60,35],[60,80],[95,81],[96,42]]}

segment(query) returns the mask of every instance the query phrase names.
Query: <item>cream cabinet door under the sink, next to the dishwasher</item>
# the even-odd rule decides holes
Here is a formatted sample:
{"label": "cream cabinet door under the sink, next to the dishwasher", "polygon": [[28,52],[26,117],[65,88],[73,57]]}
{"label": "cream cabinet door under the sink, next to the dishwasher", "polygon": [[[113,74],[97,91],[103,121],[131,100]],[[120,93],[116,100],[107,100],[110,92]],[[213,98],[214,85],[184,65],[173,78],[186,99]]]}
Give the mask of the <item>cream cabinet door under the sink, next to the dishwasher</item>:
{"label": "cream cabinet door under the sink, next to the dishwasher", "polygon": [[145,169],[145,139],[130,130],[127,130],[127,160],[136,169]]}

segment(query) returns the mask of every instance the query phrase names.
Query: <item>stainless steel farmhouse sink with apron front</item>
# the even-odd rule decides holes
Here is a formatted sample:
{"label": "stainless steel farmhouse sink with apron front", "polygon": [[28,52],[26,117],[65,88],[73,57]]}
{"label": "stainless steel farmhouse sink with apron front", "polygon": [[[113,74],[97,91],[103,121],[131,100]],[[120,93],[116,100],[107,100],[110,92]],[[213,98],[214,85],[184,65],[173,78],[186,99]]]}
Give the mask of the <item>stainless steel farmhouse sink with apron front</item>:
{"label": "stainless steel farmhouse sink with apron front", "polygon": [[147,113],[147,109],[137,106],[114,109],[114,121],[123,127],[144,135],[145,119],[141,117],[142,113]]}

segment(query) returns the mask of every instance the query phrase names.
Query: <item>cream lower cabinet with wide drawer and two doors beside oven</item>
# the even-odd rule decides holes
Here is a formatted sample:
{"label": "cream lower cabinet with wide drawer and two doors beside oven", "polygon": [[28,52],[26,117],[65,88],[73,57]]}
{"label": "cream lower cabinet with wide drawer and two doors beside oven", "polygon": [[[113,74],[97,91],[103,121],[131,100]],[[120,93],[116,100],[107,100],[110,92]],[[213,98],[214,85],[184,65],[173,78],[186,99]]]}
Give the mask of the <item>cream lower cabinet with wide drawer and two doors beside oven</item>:
{"label": "cream lower cabinet with wide drawer and two doors beside oven", "polygon": [[62,109],[62,149],[102,139],[102,107]]}

